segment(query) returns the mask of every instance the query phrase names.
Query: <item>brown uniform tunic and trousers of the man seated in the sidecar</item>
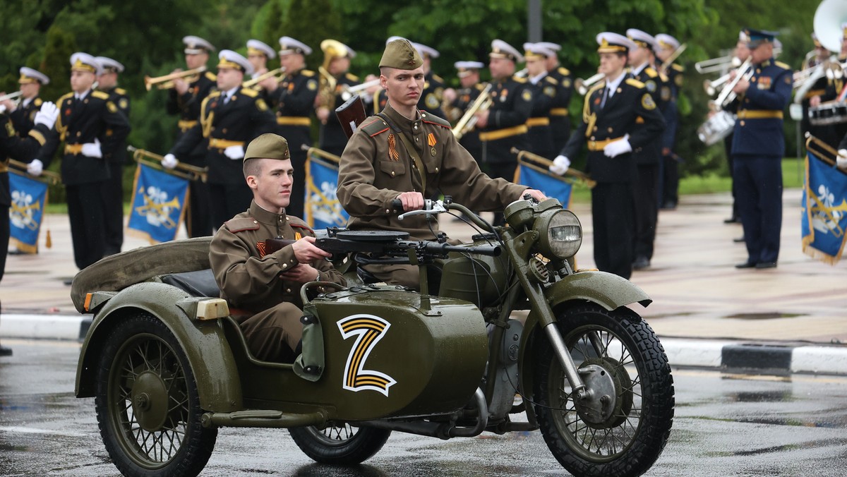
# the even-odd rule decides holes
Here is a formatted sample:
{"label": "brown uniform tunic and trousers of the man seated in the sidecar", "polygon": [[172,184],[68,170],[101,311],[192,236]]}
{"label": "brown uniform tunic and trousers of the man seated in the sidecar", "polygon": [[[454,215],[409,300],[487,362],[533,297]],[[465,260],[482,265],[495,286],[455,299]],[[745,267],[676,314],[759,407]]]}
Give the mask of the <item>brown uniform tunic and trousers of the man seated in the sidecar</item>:
{"label": "brown uniform tunic and trousers of the man seated in the sidecar", "polygon": [[[209,246],[209,262],[221,297],[243,310],[233,314],[240,320],[250,351],[264,361],[291,362],[296,358],[303,303],[302,284],[280,278],[299,263],[294,249],[288,246],[265,254],[260,247],[265,239],[302,236],[314,233],[301,219],[268,212],[252,202],[249,210],[224,223]],[[326,260],[311,265],[318,269],[320,280],[345,284]]]}

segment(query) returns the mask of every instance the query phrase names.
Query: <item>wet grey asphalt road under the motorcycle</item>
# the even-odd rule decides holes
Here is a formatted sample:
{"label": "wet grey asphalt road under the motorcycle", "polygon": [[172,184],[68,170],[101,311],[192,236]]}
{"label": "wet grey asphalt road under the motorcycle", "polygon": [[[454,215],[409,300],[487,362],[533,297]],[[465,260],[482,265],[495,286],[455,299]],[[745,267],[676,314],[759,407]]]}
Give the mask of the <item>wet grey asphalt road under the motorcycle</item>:
{"label": "wet grey asphalt road under the motorcycle", "polygon": [[[0,476],[118,474],[93,399],[74,397],[79,344],[3,341]],[[847,379],[674,369],[676,419],[648,475],[847,473]],[[367,463],[313,463],[285,430],[223,429],[202,475],[549,475],[562,468],[539,432],[440,441],[394,433]]]}

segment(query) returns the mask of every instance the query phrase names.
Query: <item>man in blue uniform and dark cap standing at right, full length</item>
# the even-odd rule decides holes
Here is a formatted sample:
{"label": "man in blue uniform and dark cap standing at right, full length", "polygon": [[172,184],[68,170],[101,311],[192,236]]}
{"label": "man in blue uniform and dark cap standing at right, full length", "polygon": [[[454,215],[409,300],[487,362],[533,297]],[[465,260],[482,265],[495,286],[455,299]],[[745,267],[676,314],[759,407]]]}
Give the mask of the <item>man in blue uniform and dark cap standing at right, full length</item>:
{"label": "man in blue uniform and dark cap standing at right, full length", "polygon": [[747,29],[746,34],[753,75],[733,89],[738,119],[732,154],[747,260],[736,267],[771,269],[777,266],[783,224],[783,109],[794,79],[788,64],[773,59],[777,33]]}

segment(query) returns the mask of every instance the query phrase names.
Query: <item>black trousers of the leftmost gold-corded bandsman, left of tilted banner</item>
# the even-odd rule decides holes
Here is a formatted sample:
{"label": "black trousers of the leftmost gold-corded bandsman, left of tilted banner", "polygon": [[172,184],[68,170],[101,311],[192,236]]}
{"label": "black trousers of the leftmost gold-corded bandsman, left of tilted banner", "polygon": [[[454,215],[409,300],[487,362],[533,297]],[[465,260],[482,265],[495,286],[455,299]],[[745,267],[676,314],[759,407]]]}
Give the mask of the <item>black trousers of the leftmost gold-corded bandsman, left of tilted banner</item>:
{"label": "black trousers of the leftmost gold-corded bandsman, left of tilted banner", "polygon": [[106,219],[102,202],[103,181],[65,186],[77,268],[85,269],[103,258],[106,249]]}

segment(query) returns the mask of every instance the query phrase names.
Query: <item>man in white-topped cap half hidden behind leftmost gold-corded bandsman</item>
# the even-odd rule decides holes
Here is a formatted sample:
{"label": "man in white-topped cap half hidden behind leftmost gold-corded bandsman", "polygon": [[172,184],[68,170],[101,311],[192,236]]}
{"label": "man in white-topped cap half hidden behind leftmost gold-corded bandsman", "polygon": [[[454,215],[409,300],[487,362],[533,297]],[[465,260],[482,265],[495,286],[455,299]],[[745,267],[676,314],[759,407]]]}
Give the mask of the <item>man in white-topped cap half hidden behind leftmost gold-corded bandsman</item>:
{"label": "man in white-topped cap half hidden behind leftmost gold-corded bandsman", "polygon": [[[130,97],[124,88],[118,87],[118,75],[124,72],[124,65],[104,56],[98,56],[97,61],[102,65],[100,75],[97,75],[97,90],[108,94],[109,101],[129,119]],[[112,130],[106,130],[106,136],[111,135]],[[128,160],[127,156],[126,141],[116,144],[108,161],[109,179],[103,182],[106,255],[119,253],[120,247],[124,245],[124,164]]]}

